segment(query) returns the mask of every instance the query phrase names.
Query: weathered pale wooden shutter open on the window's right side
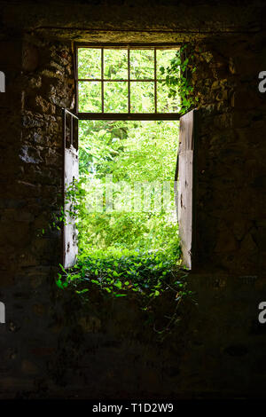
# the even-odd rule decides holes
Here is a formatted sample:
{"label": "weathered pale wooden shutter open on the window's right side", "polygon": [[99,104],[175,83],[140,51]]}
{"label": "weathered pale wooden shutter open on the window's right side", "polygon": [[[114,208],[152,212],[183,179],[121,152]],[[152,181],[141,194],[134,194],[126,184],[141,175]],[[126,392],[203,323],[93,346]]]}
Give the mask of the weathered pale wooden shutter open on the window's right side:
{"label": "weathered pale wooden shutter open on the window's right side", "polygon": [[192,269],[193,239],[193,193],[195,159],[195,117],[192,110],[180,118],[178,147],[178,224],[183,263]]}

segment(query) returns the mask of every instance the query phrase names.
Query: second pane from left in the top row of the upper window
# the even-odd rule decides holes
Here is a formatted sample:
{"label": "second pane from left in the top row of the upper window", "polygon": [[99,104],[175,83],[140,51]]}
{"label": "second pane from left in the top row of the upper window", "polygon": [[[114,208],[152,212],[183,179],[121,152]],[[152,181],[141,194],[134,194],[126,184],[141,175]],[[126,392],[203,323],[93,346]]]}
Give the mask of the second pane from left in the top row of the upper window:
{"label": "second pane from left in the top row of the upper window", "polygon": [[104,50],[105,78],[128,79],[128,50]]}

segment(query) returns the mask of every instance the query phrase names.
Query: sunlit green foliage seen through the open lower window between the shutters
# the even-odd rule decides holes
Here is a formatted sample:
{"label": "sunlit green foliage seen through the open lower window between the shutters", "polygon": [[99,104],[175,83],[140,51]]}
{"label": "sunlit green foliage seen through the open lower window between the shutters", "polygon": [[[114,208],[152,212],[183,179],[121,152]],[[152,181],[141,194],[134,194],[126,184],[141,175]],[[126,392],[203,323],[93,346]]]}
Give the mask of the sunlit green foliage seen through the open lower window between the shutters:
{"label": "sunlit green foliage seen through the open lower window between the shutters", "polygon": [[[91,248],[107,250],[110,247],[178,250],[173,193],[177,134],[178,122],[80,123],[80,171],[86,189],[78,208],[81,253]],[[104,201],[106,175],[113,176],[114,211],[111,213]],[[150,209],[136,212],[127,208],[129,187],[133,189],[136,182],[151,184],[155,181],[171,182],[169,207],[154,211],[154,190]],[[126,184],[125,189],[120,188],[121,182]],[[102,195],[103,200],[103,207],[98,211],[93,206],[96,193]],[[130,202],[133,205],[133,197]],[[125,209],[115,210],[122,204]]]}

